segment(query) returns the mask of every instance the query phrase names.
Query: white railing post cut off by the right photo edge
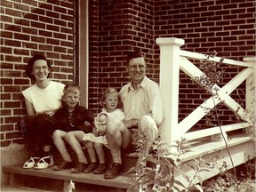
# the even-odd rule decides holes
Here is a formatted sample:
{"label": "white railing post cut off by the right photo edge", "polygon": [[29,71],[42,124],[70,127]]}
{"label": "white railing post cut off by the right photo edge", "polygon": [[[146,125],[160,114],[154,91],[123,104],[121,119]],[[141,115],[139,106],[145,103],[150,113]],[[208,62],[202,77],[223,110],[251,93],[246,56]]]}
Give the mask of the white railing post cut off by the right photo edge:
{"label": "white railing post cut off by the right photo edge", "polygon": [[[252,63],[254,65],[254,70],[251,76],[247,77],[246,79],[246,90],[245,90],[245,101],[246,101],[246,110],[252,115],[252,117],[256,117],[255,115],[255,95],[256,95],[256,88],[255,88],[255,78],[256,78],[256,57],[248,57],[244,58],[244,62]],[[255,123],[255,121],[252,120]],[[256,124],[254,124],[256,125]]]}

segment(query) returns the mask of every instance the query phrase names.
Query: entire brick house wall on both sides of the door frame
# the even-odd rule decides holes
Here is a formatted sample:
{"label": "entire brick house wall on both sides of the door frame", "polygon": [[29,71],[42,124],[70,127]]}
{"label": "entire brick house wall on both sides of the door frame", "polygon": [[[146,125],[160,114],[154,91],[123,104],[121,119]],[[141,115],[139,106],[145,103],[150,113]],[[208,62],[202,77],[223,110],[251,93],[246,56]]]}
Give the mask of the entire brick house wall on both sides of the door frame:
{"label": "entire brick house wall on both sides of the door frame", "polygon": [[[24,74],[29,57],[45,52],[53,64],[54,80],[72,81],[72,15],[72,0],[1,0],[1,146],[22,141],[14,124],[26,114],[20,92],[31,84]],[[124,70],[128,51],[144,52],[148,76],[159,82],[157,37],[183,38],[183,50],[216,50],[220,57],[242,60],[255,56],[254,24],[254,0],[90,0],[89,108],[99,110],[106,87],[129,81]],[[228,68],[224,81],[238,70]],[[192,91],[196,85],[188,76],[180,76],[181,118],[205,96]]]}

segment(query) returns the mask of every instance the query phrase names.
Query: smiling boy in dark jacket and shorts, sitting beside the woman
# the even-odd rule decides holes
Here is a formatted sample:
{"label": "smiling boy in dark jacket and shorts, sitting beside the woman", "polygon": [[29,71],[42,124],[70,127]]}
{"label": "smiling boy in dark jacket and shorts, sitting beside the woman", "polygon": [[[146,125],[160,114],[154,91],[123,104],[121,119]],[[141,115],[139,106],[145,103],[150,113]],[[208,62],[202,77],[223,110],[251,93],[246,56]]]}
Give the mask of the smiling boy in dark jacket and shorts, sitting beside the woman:
{"label": "smiling boy in dark jacket and shorts, sitting beside the woman", "polygon": [[[94,116],[92,111],[79,106],[80,88],[76,84],[65,86],[62,101],[63,108],[60,108],[53,115],[60,124],[59,130],[53,132],[52,140],[56,148],[60,151],[63,162],[60,165],[53,166],[53,170],[61,171],[74,166],[66,148],[66,142],[68,142],[75,151],[79,162],[75,168],[71,169],[71,172],[83,172],[88,162],[84,156],[84,151],[78,137],[84,135],[84,133],[92,132]],[[86,122],[90,123],[90,125],[85,125]]]}

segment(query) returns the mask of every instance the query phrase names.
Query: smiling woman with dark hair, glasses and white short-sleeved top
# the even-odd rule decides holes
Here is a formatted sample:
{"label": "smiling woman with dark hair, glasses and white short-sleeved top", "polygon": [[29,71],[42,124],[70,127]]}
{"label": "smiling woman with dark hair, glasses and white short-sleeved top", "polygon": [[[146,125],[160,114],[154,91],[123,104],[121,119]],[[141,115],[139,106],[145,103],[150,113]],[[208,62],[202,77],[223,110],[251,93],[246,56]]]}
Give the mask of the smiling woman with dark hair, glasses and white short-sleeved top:
{"label": "smiling woman with dark hair, glasses and white short-sleeved top", "polygon": [[43,55],[35,55],[28,61],[26,73],[36,84],[22,91],[22,94],[28,113],[25,116],[26,139],[28,149],[33,149],[34,154],[23,168],[44,169],[53,165],[50,153],[55,120],[52,115],[61,107],[65,84],[49,80],[50,72],[51,65]]}

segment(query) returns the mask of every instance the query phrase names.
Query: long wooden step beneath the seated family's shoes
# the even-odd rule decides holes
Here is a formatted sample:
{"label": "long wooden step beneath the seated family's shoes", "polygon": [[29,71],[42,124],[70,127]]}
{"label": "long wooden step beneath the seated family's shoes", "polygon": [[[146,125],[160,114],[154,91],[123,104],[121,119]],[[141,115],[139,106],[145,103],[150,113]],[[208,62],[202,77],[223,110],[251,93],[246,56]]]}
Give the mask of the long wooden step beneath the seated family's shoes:
{"label": "long wooden step beneath the seated family's shoes", "polygon": [[[72,152],[71,152],[72,153]],[[85,153],[87,156],[87,154]],[[44,170],[23,169],[22,164],[9,165],[3,167],[6,177],[9,177],[10,186],[21,186],[28,188],[40,188],[42,190],[65,191],[70,180],[76,185],[76,191],[126,191],[133,181],[126,172],[137,163],[137,154],[123,154],[123,174],[116,179],[106,180],[104,174],[93,173],[71,173],[70,170],[56,172],[52,167]],[[106,160],[108,166],[112,164],[112,157],[109,151],[106,151]],[[54,154],[55,164],[59,164],[62,159],[60,154]],[[75,161],[76,158],[75,158]]]}

